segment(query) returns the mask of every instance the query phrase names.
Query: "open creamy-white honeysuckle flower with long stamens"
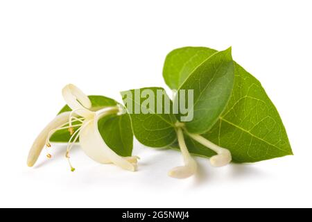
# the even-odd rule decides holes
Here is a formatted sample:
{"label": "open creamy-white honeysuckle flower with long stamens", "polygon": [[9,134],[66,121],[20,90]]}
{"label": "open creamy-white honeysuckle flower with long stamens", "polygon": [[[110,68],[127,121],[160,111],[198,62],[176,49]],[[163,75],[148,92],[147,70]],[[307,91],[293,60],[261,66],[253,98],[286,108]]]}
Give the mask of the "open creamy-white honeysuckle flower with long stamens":
{"label": "open creamy-white honeysuckle flower with long stamens", "polygon": [[[69,133],[71,133],[66,152],[68,161],[70,158],[69,152],[79,139],[81,148],[90,158],[92,158],[92,160],[101,164],[113,163],[123,169],[135,171],[137,169],[137,160],[139,158],[136,156],[121,157],[117,155],[105,144],[98,131],[98,119],[110,114],[119,114],[122,112],[121,108],[116,105],[92,111],[92,103],[88,96],[86,96],[78,87],[71,84],[62,89],[62,95],[72,111],[58,115],[58,117],[55,117],[55,119],[42,130],[42,133],[40,133],[35,140],[28,155],[28,166],[32,167],[35,164],[42,148],[44,148],[44,144],[47,147],[51,146],[49,139],[53,133],[68,128]],[[73,125],[73,123],[77,124]],[[76,127],[78,127],[78,129],[74,131],[73,129]],[[47,157],[51,157],[51,155],[48,154]],[[74,171],[75,169],[71,166],[70,161],[69,165],[71,171]]]}

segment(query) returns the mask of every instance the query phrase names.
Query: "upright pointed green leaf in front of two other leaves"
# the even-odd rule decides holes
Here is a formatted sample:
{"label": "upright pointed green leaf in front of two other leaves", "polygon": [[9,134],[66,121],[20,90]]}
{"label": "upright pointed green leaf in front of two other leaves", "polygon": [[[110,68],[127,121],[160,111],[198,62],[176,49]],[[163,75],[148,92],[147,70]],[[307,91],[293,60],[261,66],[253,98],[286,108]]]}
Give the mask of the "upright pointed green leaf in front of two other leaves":
{"label": "upright pointed green leaf in front of two other leaves", "polygon": [[206,133],[225,109],[234,85],[231,48],[214,53],[191,71],[178,92],[193,89],[193,120],[185,122],[190,133]]}

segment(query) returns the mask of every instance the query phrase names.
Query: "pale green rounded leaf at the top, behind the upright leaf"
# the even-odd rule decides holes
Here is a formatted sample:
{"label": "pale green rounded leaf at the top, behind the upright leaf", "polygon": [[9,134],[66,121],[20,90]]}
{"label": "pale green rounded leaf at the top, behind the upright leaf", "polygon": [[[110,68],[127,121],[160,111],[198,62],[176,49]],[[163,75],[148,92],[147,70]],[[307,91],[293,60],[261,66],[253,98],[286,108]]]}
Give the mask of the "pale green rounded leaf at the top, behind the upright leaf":
{"label": "pale green rounded leaf at the top, behind the upright leaf", "polygon": [[184,47],[168,53],[163,69],[164,80],[168,87],[178,89],[200,63],[216,52],[205,47]]}

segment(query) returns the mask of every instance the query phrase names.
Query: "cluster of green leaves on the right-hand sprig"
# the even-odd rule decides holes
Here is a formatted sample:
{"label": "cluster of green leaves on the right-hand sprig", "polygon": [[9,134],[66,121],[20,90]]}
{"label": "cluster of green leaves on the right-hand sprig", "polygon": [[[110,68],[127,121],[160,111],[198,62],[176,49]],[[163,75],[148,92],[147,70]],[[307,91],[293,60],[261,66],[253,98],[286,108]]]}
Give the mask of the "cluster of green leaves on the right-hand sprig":
{"label": "cluster of green leaves on the right-hand sprig", "polygon": [[[177,92],[194,90],[194,119],[184,123],[185,130],[228,148],[234,162],[257,162],[293,154],[277,109],[259,81],[232,60],[231,49],[175,49],[166,57],[163,76],[168,87]],[[175,122],[180,116],[130,114],[139,142],[174,149],[179,148]],[[187,133],[184,137],[193,155],[216,154]]]}

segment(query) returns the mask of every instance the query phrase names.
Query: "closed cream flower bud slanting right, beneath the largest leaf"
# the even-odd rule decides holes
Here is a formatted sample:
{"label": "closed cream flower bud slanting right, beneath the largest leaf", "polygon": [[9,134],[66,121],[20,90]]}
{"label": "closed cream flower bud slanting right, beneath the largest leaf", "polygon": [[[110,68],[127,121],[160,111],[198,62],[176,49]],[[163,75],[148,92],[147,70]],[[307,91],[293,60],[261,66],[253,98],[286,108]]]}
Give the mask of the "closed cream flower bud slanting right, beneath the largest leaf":
{"label": "closed cream flower bud slanting right, beneath the largest leaf", "polygon": [[207,146],[207,148],[210,148],[212,151],[215,151],[217,155],[214,155],[210,158],[210,164],[213,167],[223,167],[229,162],[232,161],[232,155],[229,150],[226,148],[222,148],[220,146],[217,146],[216,144],[210,142],[208,139],[205,139],[204,137],[192,133],[187,133],[192,139],[196,140],[200,144]]}

